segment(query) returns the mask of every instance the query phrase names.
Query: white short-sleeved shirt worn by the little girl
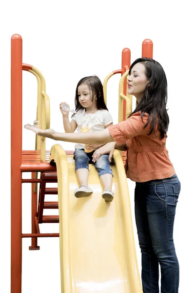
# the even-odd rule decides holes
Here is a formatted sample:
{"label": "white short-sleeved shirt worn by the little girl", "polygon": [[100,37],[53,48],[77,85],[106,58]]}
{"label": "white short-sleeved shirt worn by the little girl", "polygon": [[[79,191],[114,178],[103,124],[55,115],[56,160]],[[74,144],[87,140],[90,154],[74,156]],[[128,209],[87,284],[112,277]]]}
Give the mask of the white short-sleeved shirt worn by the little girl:
{"label": "white short-sleeved shirt worn by the little girl", "polygon": [[[79,110],[77,114],[72,117],[78,125],[78,132],[81,132],[82,126],[88,126],[90,132],[99,132],[104,130],[109,124],[113,123],[113,118],[107,110],[98,110],[96,113],[86,113],[85,109]],[[76,144],[75,148],[84,147],[83,144]]]}

